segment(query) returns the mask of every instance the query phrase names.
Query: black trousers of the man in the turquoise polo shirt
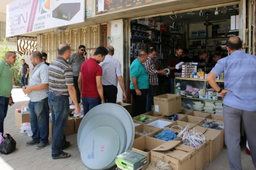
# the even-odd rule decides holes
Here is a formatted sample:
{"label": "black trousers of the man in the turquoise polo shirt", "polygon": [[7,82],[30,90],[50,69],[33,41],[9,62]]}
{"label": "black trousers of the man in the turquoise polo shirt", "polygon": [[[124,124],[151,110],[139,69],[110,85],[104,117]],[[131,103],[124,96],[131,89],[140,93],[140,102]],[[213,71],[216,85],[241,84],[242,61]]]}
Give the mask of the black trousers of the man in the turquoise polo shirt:
{"label": "black trousers of the man in the turquoise polo shirt", "polygon": [[148,89],[139,89],[141,96],[136,95],[135,90],[130,90],[132,95],[132,115],[131,117],[138,116],[146,112],[146,95]]}

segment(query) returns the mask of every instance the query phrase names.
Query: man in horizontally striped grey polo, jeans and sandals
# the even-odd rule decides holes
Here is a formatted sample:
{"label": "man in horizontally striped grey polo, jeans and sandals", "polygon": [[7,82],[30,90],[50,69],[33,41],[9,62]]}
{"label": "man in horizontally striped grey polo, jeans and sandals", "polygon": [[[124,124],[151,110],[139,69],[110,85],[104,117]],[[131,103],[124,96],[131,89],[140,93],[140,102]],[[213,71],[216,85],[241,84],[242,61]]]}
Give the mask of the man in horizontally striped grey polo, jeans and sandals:
{"label": "man in horizontally striped grey polo, jeans and sandals", "polygon": [[70,145],[70,142],[65,140],[64,135],[69,112],[69,95],[74,103],[76,113],[80,113],[73,85],[72,68],[66,61],[70,57],[70,51],[71,49],[68,44],[59,44],[58,57],[50,63],[48,68],[48,104],[51,110],[54,129],[51,157],[54,160],[70,157],[70,154],[62,151]]}

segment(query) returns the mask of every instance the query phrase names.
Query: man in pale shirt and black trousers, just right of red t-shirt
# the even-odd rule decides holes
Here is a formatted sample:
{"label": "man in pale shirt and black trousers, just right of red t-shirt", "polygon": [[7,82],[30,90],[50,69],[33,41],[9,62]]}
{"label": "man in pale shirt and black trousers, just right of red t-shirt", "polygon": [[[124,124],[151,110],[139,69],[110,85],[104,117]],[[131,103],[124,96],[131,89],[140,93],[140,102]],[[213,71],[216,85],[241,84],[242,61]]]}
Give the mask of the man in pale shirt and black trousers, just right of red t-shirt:
{"label": "man in pale shirt and black trousers, just right of red t-shirt", "polygon": [[99,65],[102,68],[102,86],[106,103],[116,103],[117,81],[122,89],[122,101],[126,100],[124,81],[121,73],[121,63],[113,58],[114,48],[111,45],[106,47],[108,54]]}

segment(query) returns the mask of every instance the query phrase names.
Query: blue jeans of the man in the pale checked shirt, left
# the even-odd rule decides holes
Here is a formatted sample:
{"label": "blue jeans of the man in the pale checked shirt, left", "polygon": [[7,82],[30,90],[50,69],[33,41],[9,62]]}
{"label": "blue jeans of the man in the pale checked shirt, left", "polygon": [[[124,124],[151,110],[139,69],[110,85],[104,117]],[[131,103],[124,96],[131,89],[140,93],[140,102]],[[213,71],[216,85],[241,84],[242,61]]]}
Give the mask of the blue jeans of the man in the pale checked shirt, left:
{"label": "blue jeans of the man in the pale checked shirt, left", "polygon": [[32,130],[32,139],[34,141],[47,144],[49,136],[49,108],[48,98],[37,102],[28,103],[30,112],[30,125]]}

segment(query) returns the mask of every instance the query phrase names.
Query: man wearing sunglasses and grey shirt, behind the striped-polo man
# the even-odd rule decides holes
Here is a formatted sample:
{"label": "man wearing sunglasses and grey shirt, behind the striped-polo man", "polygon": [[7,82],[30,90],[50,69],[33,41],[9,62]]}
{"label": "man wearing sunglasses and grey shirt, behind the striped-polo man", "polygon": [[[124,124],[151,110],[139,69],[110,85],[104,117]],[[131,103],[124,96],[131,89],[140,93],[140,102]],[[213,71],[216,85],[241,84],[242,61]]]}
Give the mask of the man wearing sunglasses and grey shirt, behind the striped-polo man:
{"label": "man wearing sunglasses and grey shirt, behind the striped-polo man", "polygon": [[84,61],[84,57],[83,57],[84,52],[86,52],[85,46],[79,45],[78,51],[76,53],[72,54],[70,56],[69,60],[67,60],[67,62],[70,64],[70,66],[73,70],[74,88],[76,91],[76,99],[77,99],[78,103],[80,103],[80,101],[81,101],[81,99],[80,99],[81,94],[80,94],[80,91],[78,88],[77,80],[78,80],[78,75],[80,72],[80,67]]}

